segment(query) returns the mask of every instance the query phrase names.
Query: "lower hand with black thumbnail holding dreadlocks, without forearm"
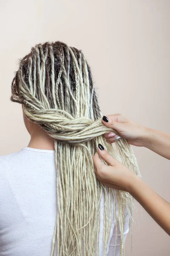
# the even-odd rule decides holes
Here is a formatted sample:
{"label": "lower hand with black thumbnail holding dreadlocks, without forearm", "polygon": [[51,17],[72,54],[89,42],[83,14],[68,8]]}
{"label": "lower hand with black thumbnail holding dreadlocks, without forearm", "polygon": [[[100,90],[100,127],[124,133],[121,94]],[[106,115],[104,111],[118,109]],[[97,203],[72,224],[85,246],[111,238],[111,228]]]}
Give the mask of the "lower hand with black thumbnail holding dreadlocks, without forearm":
{"label": "lower hand with black thumbnail holding dreadlocks, without forearm", "polygon": [[[99,155],[109,166],[102,162]],[[125,165],[114,159],[102,145],[99,144],[98,153],[94,154],[93,160],[96,176],[103,185],[130,192],[137,176]]]}

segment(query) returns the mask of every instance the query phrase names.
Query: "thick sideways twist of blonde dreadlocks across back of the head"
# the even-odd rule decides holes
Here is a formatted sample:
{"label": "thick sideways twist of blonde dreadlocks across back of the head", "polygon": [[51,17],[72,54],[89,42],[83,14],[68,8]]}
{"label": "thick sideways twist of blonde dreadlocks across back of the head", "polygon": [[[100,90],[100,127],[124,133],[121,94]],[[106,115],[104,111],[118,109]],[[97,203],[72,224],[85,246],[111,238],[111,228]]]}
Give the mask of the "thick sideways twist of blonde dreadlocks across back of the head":
{"label": "thick sideways twist of blonde dreadlocks across back of the head", "polygon": [[58,109],[31,110],[24,108],[28,119],[39,124],[50,137],[62,143],[80,144],[88,142],[113,129],[102,124],[102,120],[74,118],[68,112]]}

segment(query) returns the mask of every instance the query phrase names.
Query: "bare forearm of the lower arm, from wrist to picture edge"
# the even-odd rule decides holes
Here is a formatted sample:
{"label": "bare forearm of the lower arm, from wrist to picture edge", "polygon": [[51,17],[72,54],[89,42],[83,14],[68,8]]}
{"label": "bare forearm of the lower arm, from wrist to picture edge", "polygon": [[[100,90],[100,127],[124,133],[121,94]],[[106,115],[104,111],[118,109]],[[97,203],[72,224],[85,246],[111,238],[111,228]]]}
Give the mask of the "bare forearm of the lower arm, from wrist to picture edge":
{"label": "bare forearm of the lower arm, from wrist to picture edge", "polygon": [[137,176],[134,178],[129,192],[159,226],[170,235],[170,203],[161,198]]}

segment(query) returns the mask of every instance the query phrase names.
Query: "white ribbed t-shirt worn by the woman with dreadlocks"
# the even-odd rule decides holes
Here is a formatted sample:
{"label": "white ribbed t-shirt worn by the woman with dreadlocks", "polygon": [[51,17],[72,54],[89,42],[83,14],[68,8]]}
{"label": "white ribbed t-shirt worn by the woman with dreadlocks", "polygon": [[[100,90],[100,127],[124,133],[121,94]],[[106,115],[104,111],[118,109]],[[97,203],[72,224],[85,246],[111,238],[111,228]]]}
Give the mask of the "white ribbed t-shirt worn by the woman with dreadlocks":
{"label": "white ribbed t-shirt worn by the woman with dreadlocks", "polygon": [[[0,157],[0,256],[50,256],[56,209],[54,151],[23,148]],[[101,200],[101,206],[103,198]],[[113,206],[113,204],[112,204]],[[103,256],[103,209],[99,255]],[[114,255],[114,217],[107,256]],[[128,215],[124,234],[129,231]],[[117,239],[116,256],[119,256]]]}

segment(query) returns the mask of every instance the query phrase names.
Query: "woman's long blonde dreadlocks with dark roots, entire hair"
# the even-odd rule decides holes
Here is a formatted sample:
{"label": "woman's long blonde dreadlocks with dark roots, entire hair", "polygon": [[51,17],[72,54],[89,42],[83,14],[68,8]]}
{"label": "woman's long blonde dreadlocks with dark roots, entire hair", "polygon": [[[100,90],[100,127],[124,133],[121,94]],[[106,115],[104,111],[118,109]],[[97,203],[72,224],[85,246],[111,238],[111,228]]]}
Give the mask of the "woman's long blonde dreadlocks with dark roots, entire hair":
{"label": "woman's long blonde dreadlocks with dark roots, entire hair", "polygon": [[116,143],[117,154],[102,137],[111,129],[102,124],[91,69],[82,51],[59,41],[36,45],[20,61],[11,90],[11,100],[23,104],[27,118],[54,138],[57,218],[51,255],[56,241],[60,256],[99,255],[102,193],[105,202],[108,201],[104,218],[105,255],[111,230],[111,195],[119,206],[122,255],[125,207],[132,214],[133,199],[126,192],[106,189],[96,179],[92,157],[101,143],[133,172],[138,173],[138,167],[125,140]]}

